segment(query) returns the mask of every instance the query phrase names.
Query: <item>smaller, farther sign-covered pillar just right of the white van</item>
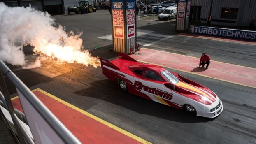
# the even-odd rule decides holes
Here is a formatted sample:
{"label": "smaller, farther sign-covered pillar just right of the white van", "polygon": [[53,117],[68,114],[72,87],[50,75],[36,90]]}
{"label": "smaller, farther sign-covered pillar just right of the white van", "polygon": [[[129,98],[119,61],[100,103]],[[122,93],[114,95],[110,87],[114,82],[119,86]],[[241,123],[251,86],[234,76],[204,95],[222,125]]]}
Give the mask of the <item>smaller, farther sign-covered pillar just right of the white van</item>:
{"label": "smaller, farther sign-covered pillar just right of the white van", "polygon": [[189,13],[191,0],[178,0],[176,31],[186,31],[189,27]]}

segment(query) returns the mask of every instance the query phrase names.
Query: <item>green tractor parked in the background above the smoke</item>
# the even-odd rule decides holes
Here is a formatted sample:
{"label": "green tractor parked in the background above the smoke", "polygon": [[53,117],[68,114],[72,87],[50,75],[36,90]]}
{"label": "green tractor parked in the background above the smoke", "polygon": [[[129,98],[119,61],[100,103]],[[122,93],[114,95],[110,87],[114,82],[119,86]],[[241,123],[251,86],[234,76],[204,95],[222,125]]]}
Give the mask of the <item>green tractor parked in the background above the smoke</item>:
{"label": "green tractor parked in the background above the smoke", "polygon": [[73,6],[70,7],[70,12],[75,12],[76,14],[78,14],[79,12],[81,12],[81,14],[83,13],[83,7],[87,4],[88,5],[88,12],[96,12],[96,8],[94,8],[93,6],[95,5],[94,2],[90,2],[88,0],[80,0],[79,2],[79,6]]}

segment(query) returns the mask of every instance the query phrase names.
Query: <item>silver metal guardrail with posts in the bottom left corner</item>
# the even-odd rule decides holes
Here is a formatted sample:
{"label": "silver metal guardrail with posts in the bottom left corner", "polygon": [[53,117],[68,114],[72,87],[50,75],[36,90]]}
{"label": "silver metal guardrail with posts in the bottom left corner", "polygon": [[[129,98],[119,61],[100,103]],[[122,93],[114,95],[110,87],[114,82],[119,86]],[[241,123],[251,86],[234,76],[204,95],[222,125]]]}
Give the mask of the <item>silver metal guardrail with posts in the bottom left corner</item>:
{"label": "silver metal guardrail with posts in the bottom left corner", "polygon": [[[28,102],[33,106],[33,108],[44,118],[47,124],[56,132],[56,134],[65,142],[66,144],[81,144],[81,142],[54,116],[54,114],[45,107],[40,100],[30,91],[30,89],[23,84],[23,82],[5,65],[5,63],[0,60],[0,99],[4,103],[6,109],[9,111],[14,126],[19,137],[19,142],[21,144],[34,144],[35,142],[30,137],[26,129],[23,127],[19,118],[14,112],[12,101],[9,97],[9,93],[5,84],[3,74],[9,79],[9,81],[16,86],[16,88],[23,94],[23,96],[28,100]],[[26,139],[23,139],[23,137]]]}

